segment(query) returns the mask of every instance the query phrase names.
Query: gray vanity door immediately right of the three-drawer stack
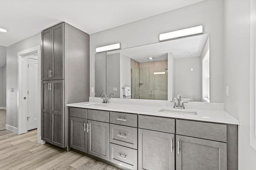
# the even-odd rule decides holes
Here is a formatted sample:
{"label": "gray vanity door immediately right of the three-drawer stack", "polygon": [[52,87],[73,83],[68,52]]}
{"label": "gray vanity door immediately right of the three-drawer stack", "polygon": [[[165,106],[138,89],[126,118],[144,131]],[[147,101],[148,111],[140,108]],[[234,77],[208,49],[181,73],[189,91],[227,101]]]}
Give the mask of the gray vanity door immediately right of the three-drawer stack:
{"label": "gray vanity door immediately right of the three-drawer stack", "polygon": [[138,169],[174,170],[174,134],[138,129]]}

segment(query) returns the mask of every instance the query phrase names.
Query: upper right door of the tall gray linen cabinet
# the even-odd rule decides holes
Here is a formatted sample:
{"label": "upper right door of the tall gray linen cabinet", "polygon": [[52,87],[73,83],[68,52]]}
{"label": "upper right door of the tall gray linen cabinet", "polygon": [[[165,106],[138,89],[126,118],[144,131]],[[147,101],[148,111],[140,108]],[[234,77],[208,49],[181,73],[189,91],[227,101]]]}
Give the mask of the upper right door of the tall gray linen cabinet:
{"label": "upper right door of the tall gray linen cabinet", "polygon": [[52,27],[52,80],[64,79],[64,23]]}

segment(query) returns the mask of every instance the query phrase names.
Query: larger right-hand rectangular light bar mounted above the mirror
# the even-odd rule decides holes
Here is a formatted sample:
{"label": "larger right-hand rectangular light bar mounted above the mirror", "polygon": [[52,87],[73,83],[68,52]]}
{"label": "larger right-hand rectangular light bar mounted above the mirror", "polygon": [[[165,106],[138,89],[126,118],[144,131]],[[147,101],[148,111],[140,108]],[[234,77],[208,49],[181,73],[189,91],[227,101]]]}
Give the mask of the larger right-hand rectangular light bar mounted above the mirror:
{"label": "larger right-hand rectangular light bar mounted above the mirror", "polygon": [[198,35],[203,33],[203,25],[186,28],[186,29],[180,29],[178,31],[172,31],[168,33],[162,33],[159,34],[159,41],[165,41],[170,39],[176,39],[180,37],[186,37],[190,35]]}

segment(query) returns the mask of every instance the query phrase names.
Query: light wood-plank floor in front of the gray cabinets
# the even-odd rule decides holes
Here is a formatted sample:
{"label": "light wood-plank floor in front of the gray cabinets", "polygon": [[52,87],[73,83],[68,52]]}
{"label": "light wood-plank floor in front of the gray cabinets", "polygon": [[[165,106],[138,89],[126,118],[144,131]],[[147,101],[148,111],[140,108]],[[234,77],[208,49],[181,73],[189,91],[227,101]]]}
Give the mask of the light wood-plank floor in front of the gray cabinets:
{"label": "light wood-plank floor in front of the gray cabinets", "polygon": [[120,170],[74,151],[37,143],[37,131],[0,131],[0,170]]}

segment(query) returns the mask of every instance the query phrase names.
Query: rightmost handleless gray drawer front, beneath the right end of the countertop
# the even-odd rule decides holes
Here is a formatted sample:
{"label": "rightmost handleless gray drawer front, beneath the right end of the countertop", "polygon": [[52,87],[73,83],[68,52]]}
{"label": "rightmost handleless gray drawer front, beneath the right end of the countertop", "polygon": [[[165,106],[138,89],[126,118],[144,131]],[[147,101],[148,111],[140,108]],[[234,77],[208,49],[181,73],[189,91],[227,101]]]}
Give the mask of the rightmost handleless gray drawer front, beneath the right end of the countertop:
{"label": "rightmost handleless gray drawer front, beneath the right end of the countertop", "polygon": [[176,120],[176,134],[213,141],[227,142],[227,126],[188,120]]}

